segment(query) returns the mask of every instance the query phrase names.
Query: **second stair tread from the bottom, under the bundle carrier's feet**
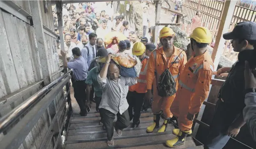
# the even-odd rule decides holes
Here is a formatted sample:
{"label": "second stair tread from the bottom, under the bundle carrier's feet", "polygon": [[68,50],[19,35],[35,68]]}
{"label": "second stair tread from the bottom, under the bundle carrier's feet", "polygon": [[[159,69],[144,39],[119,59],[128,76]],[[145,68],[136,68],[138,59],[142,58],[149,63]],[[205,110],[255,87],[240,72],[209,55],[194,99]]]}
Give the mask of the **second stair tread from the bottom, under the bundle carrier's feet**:
{"label": "second stair tread from the bottom, under the bundle carrier's feet", "polygon": [[[173,126],[168,126],[167,131],[173,130]],[[155,129],[153,133],[156,133],[158,129]],[[139,130],[130,130],[130,131],[123,131],[122,136],[136,136],[136,135],[142,135],[142,134],[149,134],[146,133],[146,128],[145,129],[139,129]],[[114,132],[114,137],[116,137],[117,134]],[[107,133],[95,133],[95,134],[85,134],[85,135],[76,135],[76,136],[67,136],[67,141],[75,141],[75,140],[84,140],[88,142],[91,139],[99,139],[99,138],[107,138]]]}

